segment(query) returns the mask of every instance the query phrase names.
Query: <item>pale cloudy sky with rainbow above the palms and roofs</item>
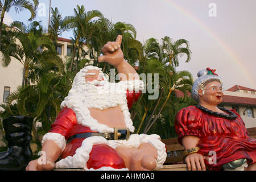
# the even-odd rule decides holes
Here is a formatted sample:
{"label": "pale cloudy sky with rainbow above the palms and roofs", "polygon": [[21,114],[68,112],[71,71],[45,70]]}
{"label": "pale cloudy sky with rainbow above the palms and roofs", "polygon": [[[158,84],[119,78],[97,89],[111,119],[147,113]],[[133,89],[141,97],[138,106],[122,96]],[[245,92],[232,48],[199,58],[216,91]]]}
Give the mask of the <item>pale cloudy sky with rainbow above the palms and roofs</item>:
{"label": "pale cloudy sky with rainbow above the palms and roofs", "polygon": [[[35,20],[48,26],[49,0],[39,0]],[[150,38],[169,36],[173,40],[185,39],[190,43],[192,58],[179,59],[177,71],[187,70],[197,78],[201,69],[216,69],[224,81],[223,88],[234,85],[256,89],[256,1],[255,0],[52,0],[63,16],[73,15],[77,5],[86,11],[99,10],[113,23],[133,24],[137,40],[144,43]],[[29,11],[10,10],[4,22],[24,23]],[[72,33],[63,33],[68,38]]]}

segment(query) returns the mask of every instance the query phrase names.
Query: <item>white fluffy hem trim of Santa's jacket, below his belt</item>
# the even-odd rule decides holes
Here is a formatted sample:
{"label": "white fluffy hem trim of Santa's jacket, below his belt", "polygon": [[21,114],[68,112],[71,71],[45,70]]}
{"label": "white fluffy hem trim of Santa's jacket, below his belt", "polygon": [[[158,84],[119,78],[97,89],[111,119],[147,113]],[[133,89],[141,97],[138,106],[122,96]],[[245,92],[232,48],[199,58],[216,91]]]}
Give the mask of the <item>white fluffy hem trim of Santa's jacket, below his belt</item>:
{"label": "white fluffy hem trim of Santa's jacket, below his belt", "polygon": [[[84,168],[89,160],[89,154],[92,151],[92,147],[95,144],[107,144],[112,148],[117,147],[139,147],[142,143],[150,143],[158,151],[158,158],[156,159],[157,166],[155,169],[159,169],[163,166],[166,160],[166,148],[164,143],[160,141],[159,135],[145,135],[145,134],[133,134],[129,140],[106,140],[103,137],[89,137],[84,139],[81,147],[77,148],[75,155],[68,156],[65,159],[61,159],[55,164],[55,168]],[[100,168],[105,169],[105,168]],[[98,170],[100,170],[98,169]],[[126,170],[126,169],[125,169]]]}

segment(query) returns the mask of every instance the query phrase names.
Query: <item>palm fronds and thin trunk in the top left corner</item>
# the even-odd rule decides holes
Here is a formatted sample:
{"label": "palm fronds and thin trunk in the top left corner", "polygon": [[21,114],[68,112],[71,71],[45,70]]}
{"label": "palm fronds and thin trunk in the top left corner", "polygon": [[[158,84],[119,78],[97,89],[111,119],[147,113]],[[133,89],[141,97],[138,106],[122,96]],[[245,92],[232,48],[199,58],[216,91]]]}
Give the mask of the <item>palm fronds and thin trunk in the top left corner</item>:
{"label": "palm fronds and thin trunk in the top left corner", "polygon": [[[12,7],[14,7],[16,13],[23,10],[29,10],[31,17],[28,20],[32,20],[36,16],[36,9],[38,7],[38,0],[33,0],[33,3],[27,0],[1,0],[0,1],[0,10],[1,10],[1,21],[0,21],[0,38],[2,37],[2,26],[3,19],[5,18],[5,13],[8,13]],[[1,46],[1,39],[0,39]],[[1,47],[0,47],[1,50]]]}

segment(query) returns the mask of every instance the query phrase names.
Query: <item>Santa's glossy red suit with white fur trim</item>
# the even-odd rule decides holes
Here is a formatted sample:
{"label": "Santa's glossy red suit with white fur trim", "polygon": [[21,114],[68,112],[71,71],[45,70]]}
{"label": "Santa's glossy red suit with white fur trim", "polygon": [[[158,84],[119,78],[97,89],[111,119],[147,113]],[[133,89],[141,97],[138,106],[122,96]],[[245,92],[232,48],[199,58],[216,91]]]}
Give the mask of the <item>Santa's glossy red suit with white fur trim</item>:
{"label": "Santa's glossy red suit with white fur trim", "polygon": [[[134,102],[138,100],[140,93],[126,92],[126,104],[121,105],[123,115],[125,117],[126,125],[130,131],[134,130],[132,122],[129,120],[129,109]],[[126,109],[127,107],[127,109]],[[67,142],[69,137],[82,133],[104,133],[111,132],[113,129],[106,128],[97,121],[94,121],[90,116],[80,115],[83,111],[77,111],[75,107],[68,104],[60,111],[51,126],[51,130],[44,135],[42,143],[51,139],[63,150],[61,160],[56,163],[55,168],[84,168],[110,170],[110,169],[126,169],[125,162],[115,151],[117,147],[139,147],[142,143],[150,143],[158,151],[158,158],[156,159],[156,168],[162,167],[166,160],[166,148],[160,141],[158,135],[138,135],[132,134],[128,140],[107,140],[104,137],[88,137],[88,138],[74,138]],[[86,114],[84,114],[86,115]],[[85,123],[85,121],[92,119],[93,122]],[[82,120],[82,121],[80,121]],[[128,121],[127,121],[128,120]],[[98,127],[97,127],[98,126]],[[103,126],[103,129],[100,129]]]}

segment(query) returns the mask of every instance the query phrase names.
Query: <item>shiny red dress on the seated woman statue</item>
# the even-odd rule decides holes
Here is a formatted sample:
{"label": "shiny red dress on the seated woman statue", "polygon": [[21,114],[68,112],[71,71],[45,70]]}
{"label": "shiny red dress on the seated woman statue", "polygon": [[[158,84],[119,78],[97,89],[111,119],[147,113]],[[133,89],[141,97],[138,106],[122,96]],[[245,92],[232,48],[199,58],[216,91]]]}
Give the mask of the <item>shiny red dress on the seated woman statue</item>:
{"label": "shiny red dress on the seated woman statue", "polygon": [[233,121],[219,118],[189,106],[181,109],[175,118],[175,130],[180,144],[184,136],[200,138],[197,147],[199,154],[212,157],[210,151],[216,152],[216,164],[205,163],[208,169],[221,169],[225,163],[233,160],[247,159],[248,164],[256,162],[256,139],[250,138],[240,115]]}

